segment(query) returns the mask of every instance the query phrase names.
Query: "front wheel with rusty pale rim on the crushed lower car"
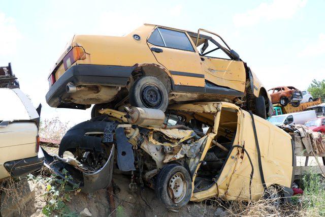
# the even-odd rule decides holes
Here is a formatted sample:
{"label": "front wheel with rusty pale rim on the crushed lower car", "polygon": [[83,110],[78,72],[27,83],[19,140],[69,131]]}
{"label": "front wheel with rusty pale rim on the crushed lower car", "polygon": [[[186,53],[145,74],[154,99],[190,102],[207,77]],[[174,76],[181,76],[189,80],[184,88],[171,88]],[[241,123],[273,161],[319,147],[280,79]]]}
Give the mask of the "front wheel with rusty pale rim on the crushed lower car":
{"label": "front wheel with rusty pale rim on the crushed lower car", "polygon": [[157,197],[168,209],[185,206],[192,194],[191,177],[177,164],[168,164],[159,171],[155,187]]}

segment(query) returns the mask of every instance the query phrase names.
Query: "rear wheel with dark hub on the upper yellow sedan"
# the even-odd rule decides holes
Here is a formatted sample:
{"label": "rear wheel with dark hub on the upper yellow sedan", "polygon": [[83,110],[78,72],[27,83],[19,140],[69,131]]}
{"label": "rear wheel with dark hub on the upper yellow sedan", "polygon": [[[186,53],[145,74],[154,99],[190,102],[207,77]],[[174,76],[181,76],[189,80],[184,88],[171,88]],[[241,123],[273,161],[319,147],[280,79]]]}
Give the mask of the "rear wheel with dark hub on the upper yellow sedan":
{"label": "rear wheel with dark hub on the upper yellow sedan", "polygon": [[137,79],[129,90],[129,101],[132,106],[166,111],[168,92],[157,78],[144,76]]}

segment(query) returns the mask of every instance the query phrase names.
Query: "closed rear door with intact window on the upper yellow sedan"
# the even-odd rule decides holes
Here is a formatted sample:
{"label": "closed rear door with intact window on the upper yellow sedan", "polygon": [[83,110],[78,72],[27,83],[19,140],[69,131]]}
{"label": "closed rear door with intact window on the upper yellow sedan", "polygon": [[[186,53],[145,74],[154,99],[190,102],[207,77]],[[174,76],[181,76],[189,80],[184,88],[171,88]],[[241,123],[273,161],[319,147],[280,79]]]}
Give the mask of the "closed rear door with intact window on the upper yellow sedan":
{"label": "closed rear door with intact window on the upper yellow sedan", "polygon": [[199,53],[186,32],[156,27],[147,42],[158,63],[171,73],[175,85],[205,86]]}

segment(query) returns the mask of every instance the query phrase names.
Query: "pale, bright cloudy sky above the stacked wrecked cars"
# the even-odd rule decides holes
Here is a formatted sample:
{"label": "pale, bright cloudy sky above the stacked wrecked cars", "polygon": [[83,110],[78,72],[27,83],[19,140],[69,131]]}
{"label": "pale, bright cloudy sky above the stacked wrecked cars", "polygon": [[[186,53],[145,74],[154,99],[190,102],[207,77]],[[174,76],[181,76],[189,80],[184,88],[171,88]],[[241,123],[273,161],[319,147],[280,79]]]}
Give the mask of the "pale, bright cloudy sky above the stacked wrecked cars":
{"label": "pale, bright cloudy sky above the stacked wrecked cars", "polygon": [[12,63],[21,90],[35,107],[42,103],[42,119],[75,125],[90,118],[90,109],[51,108],[45,101],[47,77],[67,42],[75,34],[122,36],[152,23],[215,32],[267,89],[304,90],[325,79],[324,9],[324,0],[0,0],[0,66]]}

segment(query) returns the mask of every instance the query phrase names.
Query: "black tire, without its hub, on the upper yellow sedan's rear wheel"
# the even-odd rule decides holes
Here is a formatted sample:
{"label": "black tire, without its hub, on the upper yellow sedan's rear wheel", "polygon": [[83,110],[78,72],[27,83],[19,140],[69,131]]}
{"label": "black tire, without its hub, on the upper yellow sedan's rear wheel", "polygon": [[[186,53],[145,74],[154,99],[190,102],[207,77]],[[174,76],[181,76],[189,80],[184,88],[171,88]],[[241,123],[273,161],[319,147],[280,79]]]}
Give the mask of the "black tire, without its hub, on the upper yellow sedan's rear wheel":
{"label": "black tire, without its hub, on the upper yellow sedan's rear wheel", "polygon": [[160,80],[152,76],[143,76],[135,81],[132,87],[129,90],[129,100],[132,106],[148,108],[141,100],[141,89],[147,83],[153,83],[161,93],[161,103],[157,108],[162,111],[166,111],[168,107],[168,92]]}

